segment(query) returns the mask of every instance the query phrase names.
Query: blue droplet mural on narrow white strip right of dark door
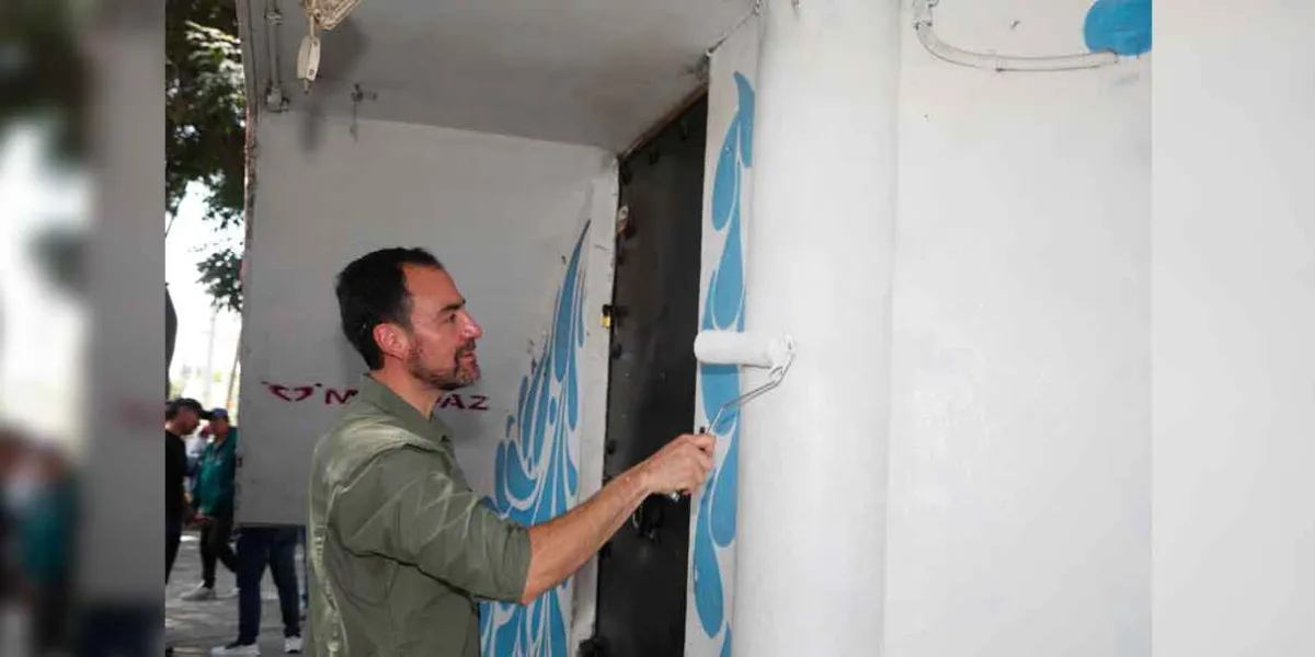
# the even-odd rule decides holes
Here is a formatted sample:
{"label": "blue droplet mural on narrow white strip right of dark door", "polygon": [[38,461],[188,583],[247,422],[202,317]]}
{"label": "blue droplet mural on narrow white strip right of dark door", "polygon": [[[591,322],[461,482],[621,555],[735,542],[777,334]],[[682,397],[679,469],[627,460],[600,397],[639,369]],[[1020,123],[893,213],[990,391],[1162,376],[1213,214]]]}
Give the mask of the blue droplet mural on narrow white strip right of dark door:
{"label": "blue droplet mural on narrow white strip right of dark door", "polygon": [[[726,235],[726,244],[709,281],[704,301],[702,330],[744,330],[744,251],[740,223],[740,187],[746,170],[753,164],[753,88],[736,72],[734,75],[738,109],[731,118],[717,158],[713,179],[713,230]],[[701,399],[710,420],[717,409],[739,397],[739,368],[700,364]],[[739,469],[739,413],[727,410],[710,432],[718,440],[729,436],[730,445],[722,463],[707,476],[704,495],[694,519],[693,587],[700,624],[709,637],[726,629],[722,654],[730,654],[730,619],[723,608],[725,590],[718,548],[735,540],[735,480]]]}

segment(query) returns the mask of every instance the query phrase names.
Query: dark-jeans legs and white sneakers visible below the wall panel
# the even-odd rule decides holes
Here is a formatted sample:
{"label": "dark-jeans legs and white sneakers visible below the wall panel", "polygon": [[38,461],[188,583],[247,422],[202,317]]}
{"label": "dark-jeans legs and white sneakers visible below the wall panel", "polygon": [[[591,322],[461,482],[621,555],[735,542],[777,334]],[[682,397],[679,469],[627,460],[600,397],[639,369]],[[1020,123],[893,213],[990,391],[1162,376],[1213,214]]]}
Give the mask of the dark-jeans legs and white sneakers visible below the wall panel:
{"label": "dark-jeans legs and white sneakers visible below the wall panel", "polygon": [[210,650],[210,654],[260,654],[260,579],[266,565],[279,589],[283,650],[301,652],[301,600],[296,564],[300,533],[292,526],[242,527],[238,535],[238,639]]}

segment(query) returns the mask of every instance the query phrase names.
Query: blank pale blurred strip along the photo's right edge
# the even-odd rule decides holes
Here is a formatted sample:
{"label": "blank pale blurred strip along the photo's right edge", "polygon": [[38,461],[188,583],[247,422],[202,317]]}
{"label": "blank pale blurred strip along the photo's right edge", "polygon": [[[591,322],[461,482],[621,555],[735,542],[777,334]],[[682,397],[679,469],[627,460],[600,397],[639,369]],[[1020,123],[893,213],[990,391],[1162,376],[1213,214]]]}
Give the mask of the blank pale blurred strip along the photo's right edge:
{"label": "blank pale blurred strip along the photo's right edge", "polygon": [[1315,654],[1315,4],[1156,5],[1155,654]]}

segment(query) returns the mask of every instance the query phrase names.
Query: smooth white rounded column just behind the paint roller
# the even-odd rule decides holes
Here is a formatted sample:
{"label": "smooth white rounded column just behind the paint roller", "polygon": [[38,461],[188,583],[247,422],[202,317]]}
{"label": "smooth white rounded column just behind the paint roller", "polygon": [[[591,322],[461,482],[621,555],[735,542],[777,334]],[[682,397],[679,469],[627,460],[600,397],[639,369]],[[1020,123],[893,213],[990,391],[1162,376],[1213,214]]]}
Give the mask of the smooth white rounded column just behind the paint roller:
{"label": "smooth white rounded column just behind the paint roller", "polygon": [[[872,654],[884,624],[899,3],[768,3],[744,330],[797,342],[743,411],[732,654]],[[746,385],[763,381],[746,373]]]}

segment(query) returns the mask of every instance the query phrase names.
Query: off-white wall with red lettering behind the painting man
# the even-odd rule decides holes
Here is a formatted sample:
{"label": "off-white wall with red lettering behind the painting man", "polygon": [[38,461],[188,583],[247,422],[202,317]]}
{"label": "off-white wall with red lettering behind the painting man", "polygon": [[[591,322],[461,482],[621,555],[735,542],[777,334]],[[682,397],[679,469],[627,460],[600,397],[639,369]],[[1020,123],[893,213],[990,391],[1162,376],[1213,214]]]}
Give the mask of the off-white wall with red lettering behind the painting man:
{"label": "off-white wall with red lettering behind the painting man", "polygon": [[[310,452],[339,407],[325,403],[325,390],[354,386],[364,372],[341,334],[334,277],[350,260],[387,246],[430,248],[484,326],[483,380],[458,393],[460,403],[442,401],[437,411],[455,431],[472,486],[496,499],[506,493],[506,474],[494,461],[519,442],[508,427],[513,434],[533,427],[548,436],[543,448],[526,455],[534,449],[521,445],[531,459],[513,455],[506,463],[525,469],[535,491],[510,505],[526,524],[564,511],[535,505],[558,497],[573,505],[597,489],[602,472],[608,334],[598,313],[611,296],[614,158],[593,147],[426,126],[360,121],[352,130],[348,120],[260,118],[238,520],[304,523]],[[565,363],[573,372],[558,376],[554,365]],[[554,403],[519,401],[530,378],[539,385],[527,388],[551,394]],[[267,384],[291,389],[284,396],[295,401]],[[310,386],[309,397],[296,401],[297,386]],[[562,434],[563,445],[552,428],[568,422],[572,406],[580,415]],[[580,593],[588,608],[579,620],[592,622],[594,589]],[[560,619],[542,625],[537,646],[487,635],[487,654],[552,654],[544,637],[568,631],[572,594],[554,591],[535,603],[556,598],[550,615],[555,610]],[[497,627],[529,623],[519,607],[500,607],[494,616]]]}

